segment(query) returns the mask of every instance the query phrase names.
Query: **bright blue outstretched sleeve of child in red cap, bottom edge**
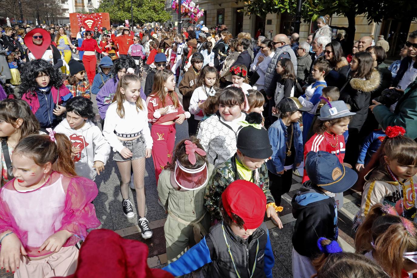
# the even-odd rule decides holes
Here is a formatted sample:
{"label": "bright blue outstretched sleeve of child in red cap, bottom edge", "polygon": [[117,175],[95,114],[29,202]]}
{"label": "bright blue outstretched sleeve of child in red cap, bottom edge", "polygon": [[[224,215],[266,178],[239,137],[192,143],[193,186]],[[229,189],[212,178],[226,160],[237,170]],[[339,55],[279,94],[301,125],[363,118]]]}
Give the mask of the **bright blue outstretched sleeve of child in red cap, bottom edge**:
{"label": "bright blue outstretched sleeve of child in red cap, bottom edge", "polygon": [[[271,243],[269,243],[269,245],[271,245]],[[162,269],[168,271],[174,276],[181,276],[187,273],[191,273],[194,270],[201,268],[203,265],[206,265],[207,263],[211,263],[211,258],[210,250],[208,249],[206,243],[206,237],[204,237],[198,244],[191,247],[190,250],[178,258],[178,260],[170,263]]]}

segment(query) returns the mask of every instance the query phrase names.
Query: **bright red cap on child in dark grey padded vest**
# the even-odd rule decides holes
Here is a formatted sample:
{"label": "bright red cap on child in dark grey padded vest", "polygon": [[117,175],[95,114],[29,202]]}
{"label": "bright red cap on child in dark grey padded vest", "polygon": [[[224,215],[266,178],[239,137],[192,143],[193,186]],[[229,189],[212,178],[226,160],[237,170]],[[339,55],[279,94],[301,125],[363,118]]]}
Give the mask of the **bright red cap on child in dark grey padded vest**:
{"label": "bright red cap on child in dark grey padded vest", "polygon": [[230,217],[234,213],[242,218],[245,230],[256,229],[264,222],[266,196],[256,184],[235,180],[221,194],[221,200]]}

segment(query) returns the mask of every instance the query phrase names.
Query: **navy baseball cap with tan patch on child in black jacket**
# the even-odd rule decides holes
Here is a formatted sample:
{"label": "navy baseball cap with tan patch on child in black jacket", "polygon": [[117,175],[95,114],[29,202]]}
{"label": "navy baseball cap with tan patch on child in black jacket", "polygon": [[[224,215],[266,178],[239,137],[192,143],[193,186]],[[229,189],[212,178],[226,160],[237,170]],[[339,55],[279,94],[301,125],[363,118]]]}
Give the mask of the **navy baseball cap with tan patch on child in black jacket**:
{"label": "navy baseball cap with tan patch on child in black jacket", "polygon": [[332,153],[319,150],[307,153],[304,168],[312,183],[332,193],[342,193],[351,188],[358,174],[339,162]]}

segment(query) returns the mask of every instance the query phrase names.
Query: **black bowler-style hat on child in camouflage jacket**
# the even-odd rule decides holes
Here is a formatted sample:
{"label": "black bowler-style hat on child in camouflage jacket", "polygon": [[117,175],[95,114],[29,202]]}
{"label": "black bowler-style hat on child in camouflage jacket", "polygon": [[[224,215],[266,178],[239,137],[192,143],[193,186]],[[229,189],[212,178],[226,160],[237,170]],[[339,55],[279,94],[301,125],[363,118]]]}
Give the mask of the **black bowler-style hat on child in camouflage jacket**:
{"label": "black bowler-style hat on child in camouflage jacket", "polygon": [[256,112],[249,113],[237,136],[236,147],[244,156],[250,158],[266,159],[272,155],[268,131],[261,125],[262,115]]}

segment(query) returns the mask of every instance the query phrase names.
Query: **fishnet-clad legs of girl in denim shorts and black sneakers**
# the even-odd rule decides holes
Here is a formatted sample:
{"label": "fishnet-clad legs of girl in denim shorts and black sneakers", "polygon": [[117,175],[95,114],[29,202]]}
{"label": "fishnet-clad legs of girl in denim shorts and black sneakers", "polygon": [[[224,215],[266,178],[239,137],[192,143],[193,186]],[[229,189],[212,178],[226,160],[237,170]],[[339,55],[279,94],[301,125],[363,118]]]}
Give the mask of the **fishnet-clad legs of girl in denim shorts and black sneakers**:
{"label": "fishnet-clad legs of girl in denim shorts and black sneakers", "polygon": [[145,158],[139,158],[128,161],[117,161],[121,181],[120,190],[123,199],[129,198],[129,183],[131,180],[131,168],[133,169],[133,184],[136,189],[136,203],[138,204],[139,218],[145,217],[146,199],[145,199]]}

